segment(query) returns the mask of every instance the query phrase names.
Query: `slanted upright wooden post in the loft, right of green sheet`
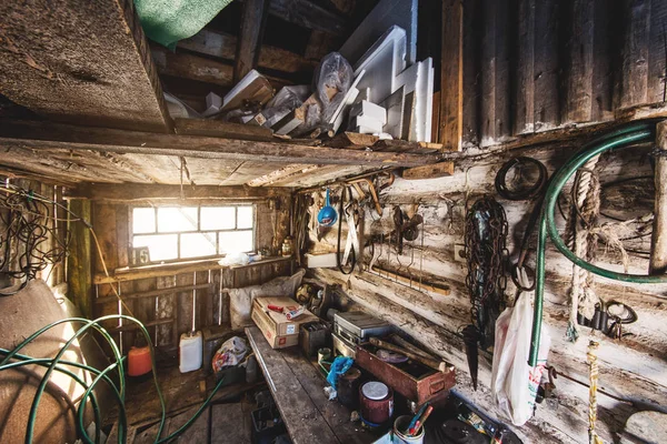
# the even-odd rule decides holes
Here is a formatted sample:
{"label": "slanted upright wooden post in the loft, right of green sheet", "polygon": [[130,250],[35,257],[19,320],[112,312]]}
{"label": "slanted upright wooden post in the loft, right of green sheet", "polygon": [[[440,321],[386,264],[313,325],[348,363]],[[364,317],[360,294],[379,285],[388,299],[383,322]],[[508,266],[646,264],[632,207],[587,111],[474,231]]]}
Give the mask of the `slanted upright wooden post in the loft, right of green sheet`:
{"label": "slanted upright wooden post in the loft, right of green sheet", "polygon": [[270,0],[245,0],[241,29],[233,63],[233,82],[238,83],[257,68]]}

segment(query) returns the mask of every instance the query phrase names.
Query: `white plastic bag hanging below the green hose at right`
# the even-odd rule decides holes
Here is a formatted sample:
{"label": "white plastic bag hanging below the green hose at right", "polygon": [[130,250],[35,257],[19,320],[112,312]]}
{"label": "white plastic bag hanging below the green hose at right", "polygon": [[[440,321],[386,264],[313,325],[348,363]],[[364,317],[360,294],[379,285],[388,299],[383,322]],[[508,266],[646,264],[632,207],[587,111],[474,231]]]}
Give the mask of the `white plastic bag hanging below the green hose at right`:
{"label": "white plastic bag hanging below the green hose at right", "polygon": [[522,293],[516,305],[506,309],[496,321],[491,393],[515,425],[524,425],[532,416],[537,389],[551,344],[551,336],[542,325],[537,365],[530,367],[530,301],[531,296]]}

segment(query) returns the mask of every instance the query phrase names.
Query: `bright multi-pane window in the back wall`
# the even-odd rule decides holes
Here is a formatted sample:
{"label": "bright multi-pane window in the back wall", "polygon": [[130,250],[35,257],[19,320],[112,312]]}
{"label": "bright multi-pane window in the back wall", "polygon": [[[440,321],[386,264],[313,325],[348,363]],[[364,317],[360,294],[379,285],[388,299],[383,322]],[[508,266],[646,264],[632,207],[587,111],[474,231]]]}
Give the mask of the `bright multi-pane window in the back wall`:
{"label": "bright multi-pane window in the back wall", "polygon": [[255,250],[255,206],[132,209],[132,246],[147,246],[150,262],[213,258]]}

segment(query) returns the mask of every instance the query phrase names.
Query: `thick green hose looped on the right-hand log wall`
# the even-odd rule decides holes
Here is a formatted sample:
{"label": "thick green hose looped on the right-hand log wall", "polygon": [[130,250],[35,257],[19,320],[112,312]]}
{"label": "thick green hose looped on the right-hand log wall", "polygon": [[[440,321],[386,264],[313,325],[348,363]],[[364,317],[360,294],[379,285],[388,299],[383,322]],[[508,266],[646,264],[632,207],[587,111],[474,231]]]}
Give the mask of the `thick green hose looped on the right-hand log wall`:
{"label": "thick green hose looped on the right-hand log wall", "polygon": [[618,273],[611,270],[596,266],[570,251],[556,226],[556,204],[558,196],[567,181],[589,159],[606,151],[625,148],[636,143],[650,142],[654,139],[654,125],[650,123],[635,123],[603,135],[591,143],[586,144],[573,158],[570,158],[551,178],[547,192],[542,214],[538,225],[537,263],[536,263],[536,287],[535,287],[535,313],[532,319],[532,335],[530,339],[530,354],[528,364],[537,365],[537,354],[540,342],[540,330],[542,321],[542,305],[545,292],[545,250],[547,246],[547,234],[551,238],[554,245],[577,266],[588,270],[603,278],[631,283],[667,283],[667,275],[645,275]]}

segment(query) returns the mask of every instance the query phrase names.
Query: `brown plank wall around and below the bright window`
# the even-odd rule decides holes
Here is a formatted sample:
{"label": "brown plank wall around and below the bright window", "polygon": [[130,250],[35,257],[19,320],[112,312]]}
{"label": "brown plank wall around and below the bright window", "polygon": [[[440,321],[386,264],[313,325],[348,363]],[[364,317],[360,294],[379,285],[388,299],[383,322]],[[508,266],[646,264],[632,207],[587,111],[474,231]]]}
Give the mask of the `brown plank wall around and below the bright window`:
{"label": "brown plank wall around and below the bright window", "polygon": [[[288,234],[289,223],[289,199],[283,199],[280,211],[269,210],[267,201],[258,201],[257,209],[257,246],[279,248],[280,243]],[[131,205],[123,203],[96,202],[92,206],[92,224],[99,238],[104,262],[110,272],[115,269],[129,265],[128,245],[130,242],[129,214]],[[273,235],[273,233],[276,233]],[[98,258],[97,251],[93,251],[93,272],[97,275],[103,275],[103,268]],[[227,294],[222,294],[222,319],[218,319],[219,312],[219,289],[243,287],[248,285],[261,284],[273,278],[289,275],[291,264],[289,261],[257,264],[255,266],[237,270],[211,270],[197,272],[197,285],[211,283],[210,289],[197,290],[197,304],[195,306],[196,327],[200,330],[205,326],[218,325],[229,322],[229,302]],[[220,280],[222,285],[220,286]],[[148,292],[172,286],[193,285],[195,273],[179,273],[175,271],[173,275],[148,278],[120,283],[121,296],[123,294]],[[98,284],[93,297],[115,296],[111,284]],[[151,341],[166,350],[178,346],[181,333],[192,329],[192,290],[178,293],[165,293],[163,295],[131,299],[127,301],[129,310],[142,323],[148,323],[148,331]],[[112,299],[109,302],[94,304],[94,316],[103,316],[118,313],[118,301]],[[123,309],[127,314],[127,307]],[[117,326],[117,322],[108,322],[109,329]],[[115,334],[118,340],[118,334]],[[135,345],[135,332],[123,332],[123,350]]]}

